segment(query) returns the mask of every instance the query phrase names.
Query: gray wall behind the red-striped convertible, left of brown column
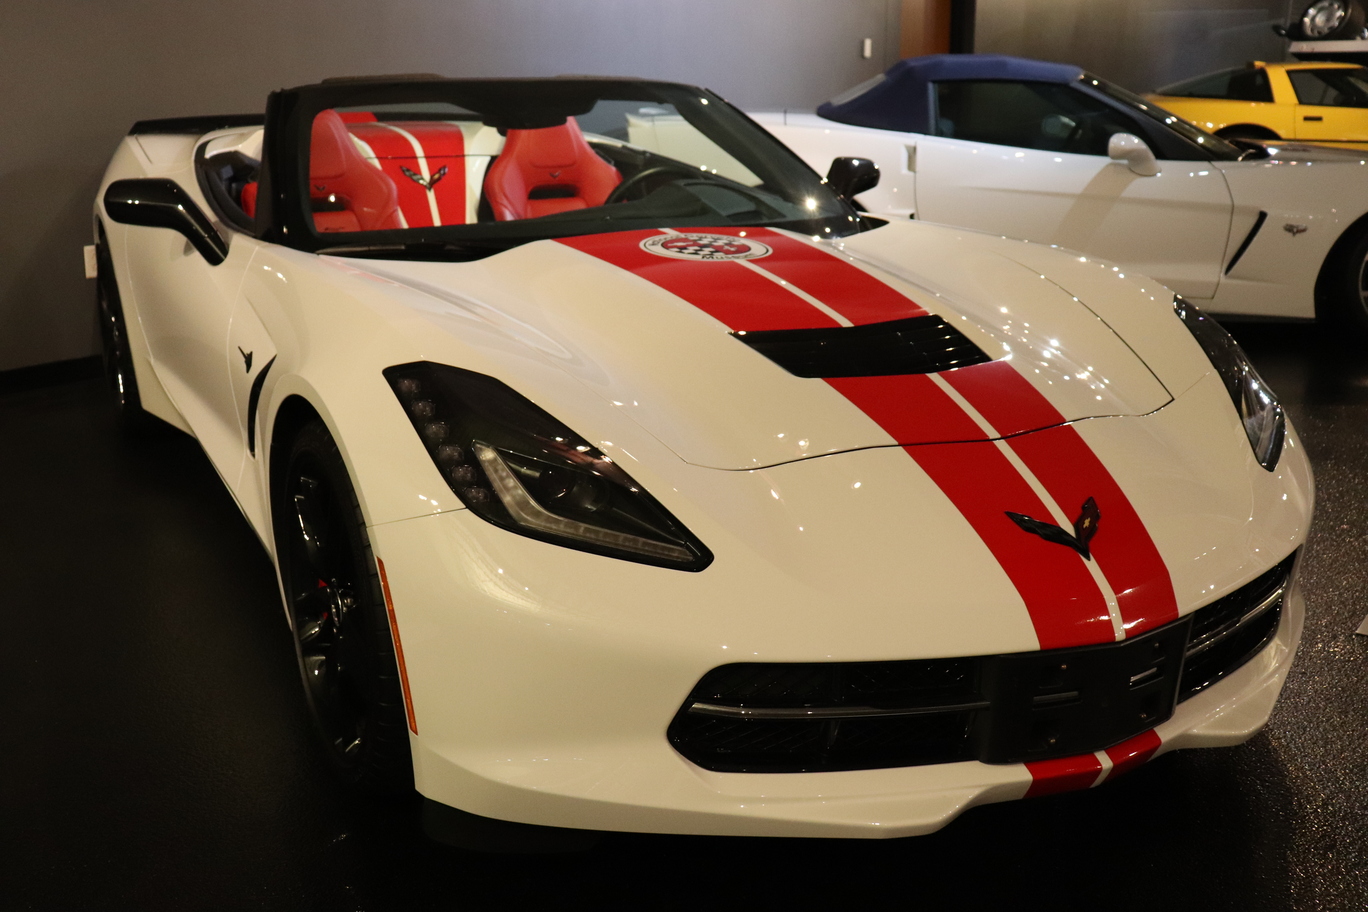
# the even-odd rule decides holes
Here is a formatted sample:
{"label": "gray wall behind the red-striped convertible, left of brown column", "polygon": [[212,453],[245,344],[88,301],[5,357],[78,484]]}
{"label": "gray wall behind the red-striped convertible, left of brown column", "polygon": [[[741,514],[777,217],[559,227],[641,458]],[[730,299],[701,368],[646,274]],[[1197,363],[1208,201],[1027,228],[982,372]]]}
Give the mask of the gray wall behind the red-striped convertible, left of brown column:
{"label": "gray wall behind the red-striped convertible, left of brown column", "polygon": [[134,120],[260,111],[272,89],[368,72],[642,75],[813,107],[899,44],[899,0],[0,3],[0,371],[97,350],[81,246]]}

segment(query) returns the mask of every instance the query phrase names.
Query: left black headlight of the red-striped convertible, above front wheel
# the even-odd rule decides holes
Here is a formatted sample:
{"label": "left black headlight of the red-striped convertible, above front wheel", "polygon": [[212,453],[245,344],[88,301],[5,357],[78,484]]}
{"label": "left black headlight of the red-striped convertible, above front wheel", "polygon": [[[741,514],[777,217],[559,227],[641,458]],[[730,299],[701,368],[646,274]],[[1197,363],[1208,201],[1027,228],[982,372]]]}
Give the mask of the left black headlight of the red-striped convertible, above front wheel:
{"label": "left black headlight of the red-striped convertible, above front wheel", "polygon": [[387,368],[384,379],[451,491],[484,520],[628,561],[711,563],[616,462],[499,380],[431,362]]}

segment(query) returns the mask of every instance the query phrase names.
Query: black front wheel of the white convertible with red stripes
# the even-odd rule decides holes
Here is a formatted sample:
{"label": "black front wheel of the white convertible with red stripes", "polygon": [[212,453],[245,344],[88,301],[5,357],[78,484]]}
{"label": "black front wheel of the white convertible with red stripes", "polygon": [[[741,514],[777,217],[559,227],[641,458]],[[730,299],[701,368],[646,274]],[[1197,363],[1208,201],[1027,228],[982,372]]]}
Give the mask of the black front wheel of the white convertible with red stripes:
{"label": "black front wheel of the white convertible with red stripes", "polygon": [[349,785],[413,785],[404,693],[356,491],[321,421],[294,438],[274,487],[276,555],[304,692]]}

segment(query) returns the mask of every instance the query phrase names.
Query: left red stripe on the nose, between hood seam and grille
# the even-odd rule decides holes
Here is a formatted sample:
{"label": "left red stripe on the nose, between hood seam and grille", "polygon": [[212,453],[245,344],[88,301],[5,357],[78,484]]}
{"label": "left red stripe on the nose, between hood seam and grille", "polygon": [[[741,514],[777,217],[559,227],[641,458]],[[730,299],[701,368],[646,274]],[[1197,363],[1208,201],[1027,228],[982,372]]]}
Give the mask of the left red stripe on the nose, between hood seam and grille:
{"label": "left red stripe on the nose, between hood seam and grille", "polygon": [[1041,649],[1115,640],[1107,600],[1078,555],[1023,533],[1007,517],[1005,510],[1027,515],[1048,513],[996,443],[944,443],[903,450],[992,551],[1026,603]]}

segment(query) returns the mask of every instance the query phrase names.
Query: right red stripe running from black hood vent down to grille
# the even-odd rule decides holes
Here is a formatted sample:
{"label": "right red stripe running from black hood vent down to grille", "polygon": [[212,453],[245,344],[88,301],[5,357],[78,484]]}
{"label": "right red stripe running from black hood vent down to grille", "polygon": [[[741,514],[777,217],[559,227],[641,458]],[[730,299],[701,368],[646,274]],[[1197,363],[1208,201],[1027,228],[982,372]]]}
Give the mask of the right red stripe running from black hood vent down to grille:
{"label": "right red stripe running from black hood vent down to grille", "polygon": [[[1088,498],[1097,502],[1101,520],[1090,550],[1116,595],[1126,636],[1176,619],[1174,584],[1155,540],[1130,498],[1078,431],[1064,424],[1064,416],[1007,361],[941,376],[999,433],[1019,435],[1008,438],[1008,446],[1066,515],[1077,517]],[[1029,428],[1047,429],[1019,433]]]}

